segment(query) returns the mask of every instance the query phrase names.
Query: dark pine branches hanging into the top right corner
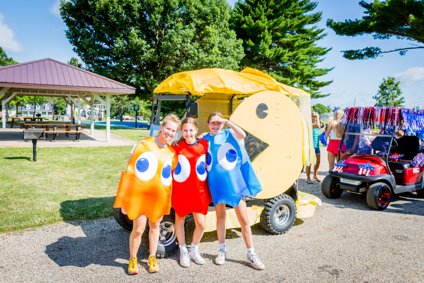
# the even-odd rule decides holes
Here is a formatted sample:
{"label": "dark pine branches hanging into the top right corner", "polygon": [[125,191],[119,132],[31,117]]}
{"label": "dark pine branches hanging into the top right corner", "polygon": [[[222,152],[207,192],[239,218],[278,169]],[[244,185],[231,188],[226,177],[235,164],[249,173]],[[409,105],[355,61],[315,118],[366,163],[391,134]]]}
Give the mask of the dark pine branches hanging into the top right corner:
{"label": "dark pine branches hanging into the top right corner", "polygon": [[[367,14],[362,19],[347,19],[345,22],[327,20],[327,26],[338,35],[356,36],[372,34],[375,39],[396,37],[407,39],[413,43],[424,43],[424,2],[422,0],[374,0],[359,2]],[[424,46],[413,44],[413,47],[381,51],[378,47],[367,47],[362,50],[346,50],[344,57],[350,60],[376,58],[383,53],[399,51],[405,55],[408,49],[420,49]]]}

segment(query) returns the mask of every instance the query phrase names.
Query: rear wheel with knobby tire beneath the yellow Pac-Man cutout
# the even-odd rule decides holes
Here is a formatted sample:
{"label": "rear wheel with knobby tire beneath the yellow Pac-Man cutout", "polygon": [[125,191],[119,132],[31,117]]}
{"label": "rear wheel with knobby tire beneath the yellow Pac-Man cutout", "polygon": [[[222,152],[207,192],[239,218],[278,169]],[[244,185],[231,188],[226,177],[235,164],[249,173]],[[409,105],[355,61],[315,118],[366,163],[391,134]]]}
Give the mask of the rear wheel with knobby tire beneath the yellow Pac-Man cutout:
{"label": "rear wheel with knobby tire beneath the yellow Pac-Man cutout", "polygon": [[271,234],[284,234],[293,226],[296,213],[294,200],[286,194],[281,194],[265,203],[261,226]]}

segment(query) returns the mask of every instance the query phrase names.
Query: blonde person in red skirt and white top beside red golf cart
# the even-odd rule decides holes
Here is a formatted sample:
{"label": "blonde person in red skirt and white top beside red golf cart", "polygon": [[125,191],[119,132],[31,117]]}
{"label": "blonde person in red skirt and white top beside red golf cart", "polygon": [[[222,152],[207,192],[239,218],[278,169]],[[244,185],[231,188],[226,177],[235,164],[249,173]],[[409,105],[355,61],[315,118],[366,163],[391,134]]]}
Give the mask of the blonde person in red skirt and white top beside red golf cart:
{"label": "blonde person in red skirt and white top beside red golf cart", "polygon": [[332,122],[328,124],[327,131],[325,132],[325,137],[330,136],[330,143],[328,143],[327,146],[327,157],[330,170],[334,168],[334,161],[338,155],[338,148],[340,148],[340,143],[343,143],[342,152],[346,151],[346,145],[344,141],[342,141],[345,126],[340,124],[340,119],[343,117],[343,114],[344,112],[341,109],[335,111],[334,118]]}

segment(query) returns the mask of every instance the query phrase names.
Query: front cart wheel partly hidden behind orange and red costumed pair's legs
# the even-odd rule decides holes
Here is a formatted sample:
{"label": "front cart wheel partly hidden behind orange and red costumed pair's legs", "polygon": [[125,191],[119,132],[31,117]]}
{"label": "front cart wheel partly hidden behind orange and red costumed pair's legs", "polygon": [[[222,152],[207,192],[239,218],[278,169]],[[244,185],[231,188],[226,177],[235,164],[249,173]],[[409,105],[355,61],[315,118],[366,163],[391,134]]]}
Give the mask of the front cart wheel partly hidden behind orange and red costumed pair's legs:
{"label": "front cart wheel partly hidden behind orange and red costumed pair's legs", "polygon": [[[187,231],[187,224],[184,222],[185,237],[187,237]],[[149,244],[149,223],[147,222],[146,229],[144,229],[144,233],[141,235],[141,247],[147,253],[150,252]],[[160,222],[159,243],[156,257],[173,255],[178,249],[178,239],[175,231],[175,210],[172,208],[171,213],[164,215]]]}

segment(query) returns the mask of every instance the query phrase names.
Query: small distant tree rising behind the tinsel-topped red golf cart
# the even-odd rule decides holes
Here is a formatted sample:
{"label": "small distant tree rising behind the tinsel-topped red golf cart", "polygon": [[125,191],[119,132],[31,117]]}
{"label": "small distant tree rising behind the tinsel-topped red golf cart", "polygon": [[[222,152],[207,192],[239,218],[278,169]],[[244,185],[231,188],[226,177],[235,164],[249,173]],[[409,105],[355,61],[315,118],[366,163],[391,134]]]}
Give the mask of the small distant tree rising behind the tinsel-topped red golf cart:
{"label": "small distant tree rising behind the tinsel-topped red golf cart", "polygon": [[405,103],[405,97],[400,96],[402,90],[399,87],[400,82],[394,77],[383,78],[380,83],[377,95],[372,98],[377,100],[374,106],[393,106],[402,107]]}

